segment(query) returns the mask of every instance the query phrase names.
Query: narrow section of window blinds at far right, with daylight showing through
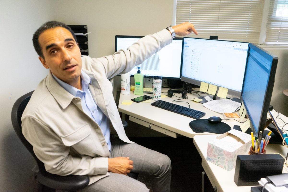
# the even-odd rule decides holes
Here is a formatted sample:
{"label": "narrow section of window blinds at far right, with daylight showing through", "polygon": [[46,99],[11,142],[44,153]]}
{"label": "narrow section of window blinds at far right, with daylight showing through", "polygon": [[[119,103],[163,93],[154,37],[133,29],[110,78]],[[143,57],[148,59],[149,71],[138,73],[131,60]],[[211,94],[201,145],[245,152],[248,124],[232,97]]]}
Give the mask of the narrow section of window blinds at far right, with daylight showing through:
{"label": "narrow section of window blinds at far right, with daylight showing through", "polygon": [[264,45],[288,45],[288,0],[270,1]]}

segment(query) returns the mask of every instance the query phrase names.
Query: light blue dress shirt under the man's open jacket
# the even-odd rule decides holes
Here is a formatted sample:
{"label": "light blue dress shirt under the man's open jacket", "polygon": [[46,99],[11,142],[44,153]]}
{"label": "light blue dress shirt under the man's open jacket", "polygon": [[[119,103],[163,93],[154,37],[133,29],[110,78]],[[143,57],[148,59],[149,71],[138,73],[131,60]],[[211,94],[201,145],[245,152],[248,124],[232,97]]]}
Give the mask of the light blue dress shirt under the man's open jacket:
{"label": "light blue dress shirt under the man's open jacket", "polygon": [[91,92],[88,88],[88,85],[91,83],[91,78],[81,71],[81,83],[82,83],[82,90],[79,90],[63,81],[58,79],[53,73],[52,73],[54,79],[59,83],[59,85],[64,88],[66,91],[68,91],[70,94],[72,94],[75,97],[81,98],[81,105],[84,110],[84,112],[93,119],[101,128],[101,131],[105,137],[105,140],[108,145],[109,151],[111,150],[111,142],[110,142],[110,127],[108,118],[104,115],[104,113],[99,109],[97,104],[95,103]]}

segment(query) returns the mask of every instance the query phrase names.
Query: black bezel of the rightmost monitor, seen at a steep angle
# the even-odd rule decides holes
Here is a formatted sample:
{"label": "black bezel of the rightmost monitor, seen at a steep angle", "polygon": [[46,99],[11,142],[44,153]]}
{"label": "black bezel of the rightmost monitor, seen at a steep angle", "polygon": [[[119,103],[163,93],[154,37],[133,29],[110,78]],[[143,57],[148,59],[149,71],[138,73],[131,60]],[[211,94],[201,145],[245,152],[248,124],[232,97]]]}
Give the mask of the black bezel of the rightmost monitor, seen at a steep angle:
{"label": "black bezel of the rightmost monitor, seen at a steep angle", "polygon": [[257,128],[257,131],[256,131],[256,129],[254,127],[254,124],[252,123],[250,111],[247,110],[247,107],[246,107],[246,104],[245,104],[245,100],[242,97],[243,88],[244,88],[244,81],[245,81],[245,76],[246,76],[246,70],[247,70],[247,63],[248,63],[248,56],[247,56],[246,69],[245,69],[245,74],[244,74],[244,80],[243,80],[242,92],[241,92],[240,100],[244,104],[244,107],[246,109],[246,116],[248,117],[248,119],[250,121],[250,128],[253,131],[253,134],[255,136],[257,136],[257,138],[258,138],[259,132],[262,131],[262,133],[263,133],[264,129],[265,129],[267,113],[268,113],[268,110],[269,110],[269,107],[270,107],[270,102],[271,102],[271,98],[272,98],[272,92],[273,92],[273,88],[274,88],[278,57],[273,55],[273,54],[271,54],[271,53],[269,53],[268,51],[264,50],[262,47],[259,47],[259,46],[255,45],[254,43],[249,43],[248,55],[249,55],[249,51],[250,51],[251,48],[253,50],[257,51],[257,53],[261,54],[262,56],[264,56],[267,60],[269,60],[272,63],[271,64],[271,70],[270,70],[269,78],[268,78],[268,84],[266,86],[264,101],[263,101],[263,104],[262,104],[262,110],[261,110],[261,115],[260,115],[259,127]]}

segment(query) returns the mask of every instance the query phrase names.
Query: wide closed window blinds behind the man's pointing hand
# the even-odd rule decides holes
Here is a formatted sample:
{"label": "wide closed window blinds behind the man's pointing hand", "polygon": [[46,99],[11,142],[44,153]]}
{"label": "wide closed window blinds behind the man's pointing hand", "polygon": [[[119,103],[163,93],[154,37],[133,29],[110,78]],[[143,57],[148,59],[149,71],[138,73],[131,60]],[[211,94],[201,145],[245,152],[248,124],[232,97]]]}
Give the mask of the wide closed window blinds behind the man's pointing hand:
{"label": "wide closed window blinds behind the man's pointing hand", "polygon": [[258,43],[263,0],[177,0],[176,24],[191,22],[199,35]]}

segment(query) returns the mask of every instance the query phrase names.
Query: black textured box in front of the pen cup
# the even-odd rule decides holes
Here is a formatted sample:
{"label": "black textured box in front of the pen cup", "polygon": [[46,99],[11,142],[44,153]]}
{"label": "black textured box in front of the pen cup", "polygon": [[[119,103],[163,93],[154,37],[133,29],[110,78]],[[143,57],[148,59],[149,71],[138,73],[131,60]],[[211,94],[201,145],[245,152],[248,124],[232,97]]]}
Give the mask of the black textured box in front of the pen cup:
{"label": "black textured box in front of the pen cup", "polygon": [[284,158],[279,154],[238,155],[234,182],[237,186],[259,185],[258,181],[282,173]]}

